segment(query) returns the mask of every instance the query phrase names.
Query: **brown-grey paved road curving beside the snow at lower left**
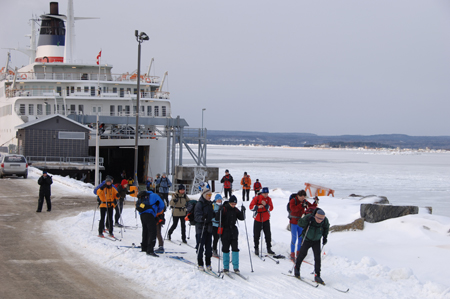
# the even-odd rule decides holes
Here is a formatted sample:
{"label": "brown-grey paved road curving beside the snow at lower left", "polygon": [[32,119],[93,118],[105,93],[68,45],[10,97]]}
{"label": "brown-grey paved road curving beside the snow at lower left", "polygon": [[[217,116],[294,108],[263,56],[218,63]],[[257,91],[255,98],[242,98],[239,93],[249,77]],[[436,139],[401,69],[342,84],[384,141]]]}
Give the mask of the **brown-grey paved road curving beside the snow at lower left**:
{"label": "brown-grey paved road curving beside the snow at lower left", "polygon": [[79,259],[43,229],[46,220],[92,210],[95,201],[54,184],[52,212],[44,201],[36,213],[36,182],[0,179],[0,298],[142,298],[139,286]]}

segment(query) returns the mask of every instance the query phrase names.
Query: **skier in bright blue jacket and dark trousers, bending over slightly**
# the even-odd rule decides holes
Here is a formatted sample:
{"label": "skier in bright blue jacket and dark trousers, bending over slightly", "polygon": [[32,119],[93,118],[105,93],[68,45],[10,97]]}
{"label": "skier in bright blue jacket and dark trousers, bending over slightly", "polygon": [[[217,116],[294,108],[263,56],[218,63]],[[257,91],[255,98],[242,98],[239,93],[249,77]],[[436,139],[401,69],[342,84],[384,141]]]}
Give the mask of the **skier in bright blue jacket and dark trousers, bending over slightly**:
{"label": "skier in bright blue jacket and dark trousers, bending over slightly", "polygon": [[138,202],[144,208],[139,212],[142,223],[142,242],[141,251],[147,252],[147,255],[158,257],[154,252],[156,244],[156,215],[164,210],[164,202],[158,194],[152,191],[141,191],[138,194]]}

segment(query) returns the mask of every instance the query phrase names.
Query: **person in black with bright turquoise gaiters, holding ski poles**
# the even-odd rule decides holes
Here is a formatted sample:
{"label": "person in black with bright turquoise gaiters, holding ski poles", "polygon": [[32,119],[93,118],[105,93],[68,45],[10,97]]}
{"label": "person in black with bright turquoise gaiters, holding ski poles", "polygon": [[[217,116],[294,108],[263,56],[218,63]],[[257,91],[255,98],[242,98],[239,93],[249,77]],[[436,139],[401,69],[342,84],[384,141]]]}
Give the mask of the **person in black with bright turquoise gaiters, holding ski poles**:
{"label": "person in black with bright turquoise gaiters, holding ski poles", "polygon": [[222,220],[219,227],[223,227],[222,234],[222,252],[223,252],[223,271],[228,272],[230,267],[230,246],[231,259],[234,272],[239,273],[239,231],[236,227],[237,220],[244,220],[245,207],[242,205],[239,211],[236,208],[237,198],[231,195],[230,200],[225,202],[216,213],[216,220]]}

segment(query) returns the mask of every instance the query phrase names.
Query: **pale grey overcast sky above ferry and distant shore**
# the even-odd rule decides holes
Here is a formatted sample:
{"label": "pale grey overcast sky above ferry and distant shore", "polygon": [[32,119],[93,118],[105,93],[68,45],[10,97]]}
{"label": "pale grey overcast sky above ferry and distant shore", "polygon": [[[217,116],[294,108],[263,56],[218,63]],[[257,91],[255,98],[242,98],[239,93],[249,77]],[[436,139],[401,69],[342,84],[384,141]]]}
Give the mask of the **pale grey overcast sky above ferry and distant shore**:
{"label": "pale grey overcast sky above ferry and distant shore", "polygon": [[[0,0],[0,48],[44,0]],[[67,1],[60,1],[66,14]],[[450,135],[448,0],[74,0],[77,58],[169,71],[173,117],[214,130]],[[0,49],[0,65],[6,62]],[[28,57],[12,52],[13,65]]]}

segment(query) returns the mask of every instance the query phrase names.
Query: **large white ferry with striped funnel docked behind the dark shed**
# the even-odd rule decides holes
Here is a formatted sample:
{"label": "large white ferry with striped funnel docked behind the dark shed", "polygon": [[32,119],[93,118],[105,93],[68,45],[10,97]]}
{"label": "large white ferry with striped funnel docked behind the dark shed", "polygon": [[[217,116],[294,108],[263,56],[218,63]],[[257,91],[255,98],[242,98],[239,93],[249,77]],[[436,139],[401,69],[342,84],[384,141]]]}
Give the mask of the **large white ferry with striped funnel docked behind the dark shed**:
{"label": "large white ferry with striped funnel docked behind the dark shed", "polygon": [[[114,74],[111,65],[99,61],[101,53],[96,63],[77,63],[73,59],[75,20],[72,0],[68,0],[67,15],[59,14],[58,3],[51,2],[50,13],[39,19],[37,46],[32,22],[31,45],[23,51],[30,64],[17,69],[10,65],[10,57],[6,58],[0,73],[0,146],[20,153],[16,128],[57,114],[93,129],[98,126],[105,174],[118,177],[125,170],[127,177],[133,177],[138,113],[140,181],[157,173],[174,175],[175,166],[182,165],[183,144],[197,165],[206,166],[203,128],[200,134],[190,134],[184,119],[172,118],[170,94],[163,91],[167,72],[162,79],[150,76],[150,63],[139,77],[136,71]],[[192,137],[195,141],[190,135],[196,136]],[[91,135],[91,156],[95,155],[95,142]],[[198,155],[187,142],[199,144]]]}

